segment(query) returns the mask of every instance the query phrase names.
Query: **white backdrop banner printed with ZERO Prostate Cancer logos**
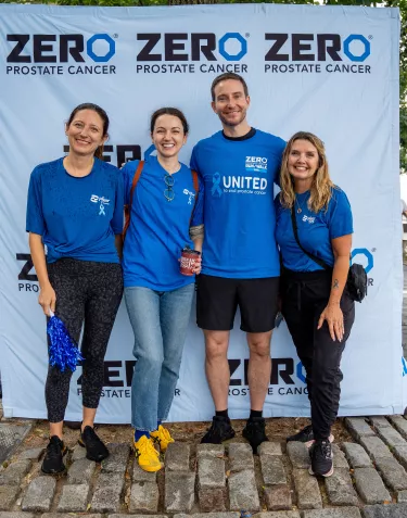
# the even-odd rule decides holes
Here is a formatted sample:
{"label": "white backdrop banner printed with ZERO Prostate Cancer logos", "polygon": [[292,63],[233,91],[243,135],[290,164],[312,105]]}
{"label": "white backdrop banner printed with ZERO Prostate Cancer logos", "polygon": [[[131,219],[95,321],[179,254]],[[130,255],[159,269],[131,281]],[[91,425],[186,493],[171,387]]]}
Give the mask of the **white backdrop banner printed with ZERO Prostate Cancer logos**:
{"label": "white backdrop banner printed with ZERO Prostate Cancer logos", "polygon": [[[58,8],[0,5],[1,377],[7,417],[44,418],[46,321],[25,235],[30,172],[66,151],[64,122],[81,102],[111,117],[105,160],[151,153],[149,117],[185,111],[192,146],[220,127],[209,87],[222,72],[250,88],[249,122],[288,139],[310,130],[326,143],[331,174],[347,193],[353,260],[369,277],[342,367],[341,415],[399,413],[402,255],[398,181],[398,39],[395,9],[305,5]],[[230,415],[250,408],[247,348],[231,333]],[[129,422],[132,332],[120,307],[105,357],[98,420]],[[306,416],[304,370],[284,324],[272,338],[266,416]],[[81,368],[66,418],[80,419]],[[209,419],[204,344],[192,312],[170,420]]]}

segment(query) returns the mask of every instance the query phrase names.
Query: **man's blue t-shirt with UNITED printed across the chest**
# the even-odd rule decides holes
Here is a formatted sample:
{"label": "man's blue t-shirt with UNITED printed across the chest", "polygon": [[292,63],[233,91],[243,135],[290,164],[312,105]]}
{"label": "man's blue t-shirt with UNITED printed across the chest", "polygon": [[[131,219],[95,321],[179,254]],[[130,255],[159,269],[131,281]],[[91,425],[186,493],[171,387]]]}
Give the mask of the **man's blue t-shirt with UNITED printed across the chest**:
{"label": "man's blue t-shirt with UNITED printed across the chest", "polygon": [[285,142],[259,131],[228,139],[222,131],[194,147],[191,167],[205,185],[202,273],[252,279],[280,275],[274,182]]}

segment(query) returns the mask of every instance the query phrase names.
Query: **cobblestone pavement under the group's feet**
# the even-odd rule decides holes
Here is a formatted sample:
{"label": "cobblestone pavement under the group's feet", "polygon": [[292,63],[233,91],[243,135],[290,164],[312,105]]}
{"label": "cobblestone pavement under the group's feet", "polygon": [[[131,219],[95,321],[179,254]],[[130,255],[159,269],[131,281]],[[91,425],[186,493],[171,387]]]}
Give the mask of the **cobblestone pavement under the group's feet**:
{"label": "cobblestone pavement under the group's feet", "polygon": [[158,473],[142,471],[128,444],[109,444],[101,465],[76,445],[60,477],[41,475],[43,448],[20,448],[0,469],[0,518],[240,518],[243,509],[258,518],[406,518],[407,419],[352,417],[345,426],[354,442],[334,443],[328,479],[308,473],[302,443],[263,443],[253,456],[245,442],[176,442]]}

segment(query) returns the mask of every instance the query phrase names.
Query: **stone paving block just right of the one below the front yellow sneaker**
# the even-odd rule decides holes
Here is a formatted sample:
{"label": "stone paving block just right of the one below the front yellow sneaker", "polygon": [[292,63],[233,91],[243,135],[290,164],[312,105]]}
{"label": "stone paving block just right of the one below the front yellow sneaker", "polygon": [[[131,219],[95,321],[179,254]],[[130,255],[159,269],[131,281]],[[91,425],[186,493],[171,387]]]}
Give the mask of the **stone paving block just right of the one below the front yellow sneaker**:
{"label": "stone paving block just right of the one below the front yellow sneaker", "polygon": [[168,471],[165,473],[165,510],[189,513],[194,502],[195,473]]}

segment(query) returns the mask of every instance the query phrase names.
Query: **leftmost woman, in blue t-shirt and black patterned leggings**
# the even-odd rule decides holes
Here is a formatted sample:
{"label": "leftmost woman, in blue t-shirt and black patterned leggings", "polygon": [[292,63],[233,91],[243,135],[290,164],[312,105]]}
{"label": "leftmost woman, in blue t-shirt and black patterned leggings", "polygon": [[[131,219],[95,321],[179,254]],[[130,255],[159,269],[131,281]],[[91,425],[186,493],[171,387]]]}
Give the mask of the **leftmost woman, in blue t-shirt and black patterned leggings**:
{"label": "leftmost woman, in blue t-shirt and black patterned leggings", "polygon": [[[123,294],[123,176],[102,161],[107,129],[109,117],[100,106],[75,108],[65,125],[68,154],[31,173],[26,223],[43,313],[61,318],[75,342],[84,325],[79,444],[96,462],[109,455],[93,421],[103,387],[103,359]],[[62,372],[49,366],[50,442],[41,467],[46,473],[65,470],[62,429],[71,377],[68,368]]]}

